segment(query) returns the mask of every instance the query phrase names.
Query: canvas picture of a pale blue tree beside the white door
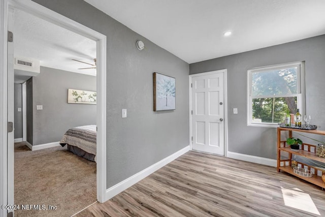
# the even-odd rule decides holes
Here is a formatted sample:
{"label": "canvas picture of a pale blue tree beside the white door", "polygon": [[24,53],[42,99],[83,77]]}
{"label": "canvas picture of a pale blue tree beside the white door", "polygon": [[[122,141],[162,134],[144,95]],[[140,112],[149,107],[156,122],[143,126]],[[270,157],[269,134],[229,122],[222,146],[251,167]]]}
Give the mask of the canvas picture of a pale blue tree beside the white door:
{"label": "canvas picture of a pale blue tree beside the white door", "polygon": [[153,73],[153,111],[176,109],[176,79]]}

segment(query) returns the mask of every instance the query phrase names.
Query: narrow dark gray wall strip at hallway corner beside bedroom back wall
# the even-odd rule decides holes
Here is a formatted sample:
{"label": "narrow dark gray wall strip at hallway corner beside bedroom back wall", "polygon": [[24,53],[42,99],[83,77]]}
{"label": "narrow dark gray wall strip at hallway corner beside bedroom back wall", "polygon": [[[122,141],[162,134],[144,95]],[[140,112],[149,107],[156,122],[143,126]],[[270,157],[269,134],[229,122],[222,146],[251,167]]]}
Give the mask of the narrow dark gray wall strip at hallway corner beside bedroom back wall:
{"label": "narrow dark gray wall strip at hallway corner beside bedroom back wall", "polygon": [[26,81],[26,141],[30,144],[32,140],[33,130],[33,104],[32,104],[32,78]]}

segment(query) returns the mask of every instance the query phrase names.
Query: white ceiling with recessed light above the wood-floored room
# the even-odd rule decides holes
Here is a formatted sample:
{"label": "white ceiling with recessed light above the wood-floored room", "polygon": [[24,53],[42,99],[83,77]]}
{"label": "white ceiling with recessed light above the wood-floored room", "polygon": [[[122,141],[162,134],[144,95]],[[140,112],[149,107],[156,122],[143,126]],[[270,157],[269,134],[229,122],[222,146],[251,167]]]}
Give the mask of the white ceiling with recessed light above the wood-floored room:
{"label": "white ceiling with recessed light above the wood-floored room", "polygon": [[325,34],[324,0],[84,1],[187,63]]}

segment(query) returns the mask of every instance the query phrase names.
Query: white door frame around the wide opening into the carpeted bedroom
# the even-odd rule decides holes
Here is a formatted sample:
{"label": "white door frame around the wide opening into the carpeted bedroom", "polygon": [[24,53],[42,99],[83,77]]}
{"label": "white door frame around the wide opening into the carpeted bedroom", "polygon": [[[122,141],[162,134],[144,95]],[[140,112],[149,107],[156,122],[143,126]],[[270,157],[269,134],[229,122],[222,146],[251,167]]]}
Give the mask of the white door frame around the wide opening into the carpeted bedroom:
{"label": "white door frame around the wide opening into the carpeted bedroom", "polygon": [[[8,204],[8,158],[7,158],[7,32],[8,9],[19,9],[71,30],[79,35],[96,41],[97,58],[97,199],[106,201],[106,36],[88,28],[76,21],[64,17],[48,8],[30,0],[1,0],[0,1],[0,204]],[[0,209],[0,216],[5,216],[6,210]]]}

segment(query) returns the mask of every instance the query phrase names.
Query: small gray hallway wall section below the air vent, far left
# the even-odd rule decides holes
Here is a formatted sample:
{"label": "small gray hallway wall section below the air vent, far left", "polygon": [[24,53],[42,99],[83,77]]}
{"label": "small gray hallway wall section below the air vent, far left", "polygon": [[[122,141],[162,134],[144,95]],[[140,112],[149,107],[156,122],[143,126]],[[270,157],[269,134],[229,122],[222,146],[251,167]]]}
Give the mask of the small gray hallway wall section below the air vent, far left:
{"label": "small gray hallway wall section below the air vent, far left", "polygon": [[22,138],[22,110],[18,111],[18,108],[22,108],[22,85],[15,84],[15,139]]}

